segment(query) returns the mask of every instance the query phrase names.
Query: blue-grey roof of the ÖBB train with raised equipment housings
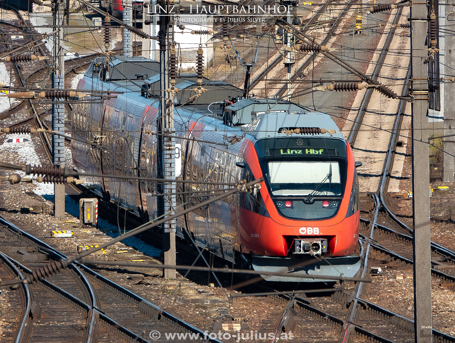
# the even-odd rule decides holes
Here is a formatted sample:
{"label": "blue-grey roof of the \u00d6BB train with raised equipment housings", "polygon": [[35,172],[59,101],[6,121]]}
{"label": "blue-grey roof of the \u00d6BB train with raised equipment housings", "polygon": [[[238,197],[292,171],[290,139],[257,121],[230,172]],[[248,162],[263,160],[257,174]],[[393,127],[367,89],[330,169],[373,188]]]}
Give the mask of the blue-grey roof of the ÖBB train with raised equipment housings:
{"label": "blue-grey roof of the \u00d6BB train with raised equipment housings", "polygon": [[[154,70],[157,66],[156,61],[143,57],[126,57],[118,56],[112,61],[112,76],[116,71],[121,71],[122,79],[101,81],[99,74],[96,72],[96,65],[100,66],[105,62],[105,57],[96,58],[82,80],[83,89],[111,89],[111,91],[124,91],[124,94],[118,94],[116,99],[111,99],[109,103],[121,108],[128,113],[138,116],[144,114],[144,108],[147,106],[158,107],[158,98],[145,98],[141,96],[141,87],[147,83],[153,91],[159,91],[159,73],[147,77],[146,80],[133,80],[136,85],[126,80],[124,76],[138,74],[138,71]],[[151,63],[151,64],[149,64]],[[116,68],[119,68],[116,70]],[[129,78],[129,77],[128,77]],[[196,84],[196,74],[181,73],[177,78],[176,88],[180,89],[174,99],[174,103],[185,102],[195,93],[192,89]],[[332,118],[321,112],[308,112],[302,106],[284,100],[278,99],[243,99],[243,90],[229,85],[222,81],[210,81],[204,78],[205,86],[208,91],[197,98],[190,104],[176,106],[174,115],[174,127],[176,131],[187,131],[191,122],[197,123],[192,131],[193,136],[198,139],[212,141],[216,144],[229,146],[229,151],[234,154],[241,154],[246,141],[252,141],[253,144],[260,139],[286,137],[285,133],[279,133],[282,128],[290,127],[320,127],[327,130],[336,130],[337,132],[330,135],[316,134],[316,137],[337,138],[344,140]],[[158,93],[159,94],[159,93]],[[113,94],[113,96],[116,96]],[[180,98],[179,98],[180,96]],[[229,96],[236,96],[239,99],[226,110],[234,114],[237,122],[235,126],[223,125],[221,113],[214,111],[214,106],[208,108],[209,104],[217,101],[224,101]],[[211,111],[210,111],[211,110]],[[241,142],[232,146],[229,144],[229,137],[236,135],[238,138],[243,137]],[[298,135],[300,136],[300,135]]]}

